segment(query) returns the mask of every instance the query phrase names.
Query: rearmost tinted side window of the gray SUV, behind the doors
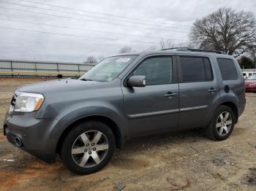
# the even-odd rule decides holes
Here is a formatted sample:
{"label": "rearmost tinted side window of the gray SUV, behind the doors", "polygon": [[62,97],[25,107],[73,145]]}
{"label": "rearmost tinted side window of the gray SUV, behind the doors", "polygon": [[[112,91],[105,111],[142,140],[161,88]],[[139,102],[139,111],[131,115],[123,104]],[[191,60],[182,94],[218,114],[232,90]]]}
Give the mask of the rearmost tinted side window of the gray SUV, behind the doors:
{"label": "rearmost tinted side window of the gray SUV, behind the doors", "polygon": [[235,63],[231,59],[217,58],[223,80],[238,79]]}

